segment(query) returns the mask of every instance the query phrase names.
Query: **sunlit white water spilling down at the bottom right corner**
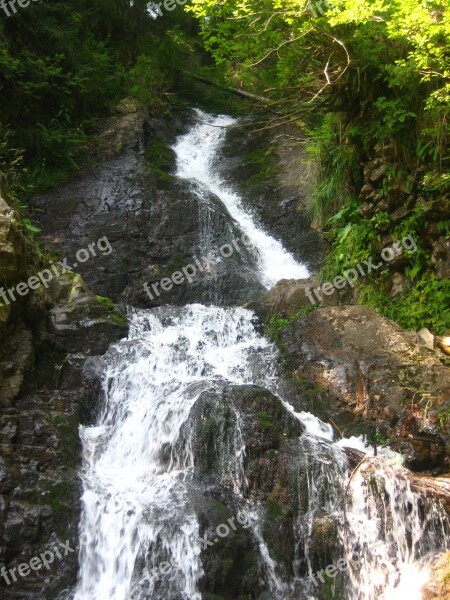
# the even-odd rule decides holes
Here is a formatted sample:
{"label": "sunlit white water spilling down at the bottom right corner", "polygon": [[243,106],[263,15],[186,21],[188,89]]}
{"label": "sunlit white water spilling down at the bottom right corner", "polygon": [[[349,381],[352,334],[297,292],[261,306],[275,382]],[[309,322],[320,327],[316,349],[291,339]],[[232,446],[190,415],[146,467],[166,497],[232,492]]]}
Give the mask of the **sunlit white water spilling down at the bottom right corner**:
{"label": "sunlit white water spilling down at the bottom right corner", "polygon": [[[368,457],[348,485],[344,546],[349,600],[422,600],[430,563],[448,545],[445,512],[411,489],[401,457]],[[422,503],[422,510],[421,510]]]}

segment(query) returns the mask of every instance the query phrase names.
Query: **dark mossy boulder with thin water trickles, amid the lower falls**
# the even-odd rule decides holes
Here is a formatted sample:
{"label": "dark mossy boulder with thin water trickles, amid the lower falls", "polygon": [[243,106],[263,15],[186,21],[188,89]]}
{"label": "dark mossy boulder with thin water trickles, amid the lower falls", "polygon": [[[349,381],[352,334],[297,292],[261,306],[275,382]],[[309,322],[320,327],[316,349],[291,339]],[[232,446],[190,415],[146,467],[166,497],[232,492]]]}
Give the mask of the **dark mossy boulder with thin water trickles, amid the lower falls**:
{"label": "dark mossy boulder with thin water trickles, amid the lower falls", "polygon": [[195,486],[189,487],[194,490],[201,535],[214,539],[217,525],[229,517],[238,523],[232,536],[202,552],[204,594],[253,597],[255,589],[262,593],[267,588],[259,544],[236,519],[245,506],[242,498],[265,506],[264,539],[278,562],[277,570],[293,576],[302,433],[303,426],[280,400],[256,386],[217,386],[204,392],[192,408],[176,454],[194,456]]}

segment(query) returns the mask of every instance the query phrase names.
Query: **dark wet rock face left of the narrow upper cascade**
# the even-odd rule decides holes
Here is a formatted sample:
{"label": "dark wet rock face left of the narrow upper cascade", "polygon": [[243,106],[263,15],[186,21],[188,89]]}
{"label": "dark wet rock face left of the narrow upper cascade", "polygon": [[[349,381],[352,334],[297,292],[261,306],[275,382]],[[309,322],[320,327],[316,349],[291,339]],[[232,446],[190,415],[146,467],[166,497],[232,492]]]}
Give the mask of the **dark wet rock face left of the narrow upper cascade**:
{"label": "dark wet rock face left of the narrow upper cascade", "polygon": [[[169,145],[185,126],[176,116],[169,123],[149,120],[139,111],[112,117],[100,136],[102,162],[31,202],[36,222],[45,230],[44,243],[69,264],[80,249],[107,238],[112,251],[97,251],[89,261],[77,263],[76,270],[91,289],[115,302],[126,300],[141,308],[241,304],[264,290],[253,270],[243,265],[247,249],[230,258],[220,256],[220,248],[242,233],[218,199],[204,194],[199,206],[192,193],[196,184],[172,177]],[[105,151],[116,146],[120,151]],[[155,147],[171,157],[157,171]],[[202,235],[206,230],[208,239]],[[161,280],[195,264],[195,258],[207,263],[204,272],[161,292]],[[159,294],[146,293],[145,284],[150,289],[158,284]],[[62,328],[64,316],[60,321]]]}

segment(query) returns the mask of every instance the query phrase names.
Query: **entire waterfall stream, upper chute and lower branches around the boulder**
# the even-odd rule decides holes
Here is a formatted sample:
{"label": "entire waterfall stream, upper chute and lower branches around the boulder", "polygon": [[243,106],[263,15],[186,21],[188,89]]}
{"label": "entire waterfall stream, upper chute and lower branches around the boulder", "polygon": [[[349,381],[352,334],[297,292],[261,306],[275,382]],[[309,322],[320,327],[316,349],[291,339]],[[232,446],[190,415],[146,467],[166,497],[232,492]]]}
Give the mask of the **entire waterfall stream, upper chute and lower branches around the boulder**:
{"label": "entire waterfall stream, upper chute and lower branches around the boulder", "polygon": [[[196,123],[173,147],[176,177],[191,185],[200,208],[208,194],[220,200],[250,241],[252,260],[246,266],[265,288],[280,279],[306,278],[308,269],[264,230],[219,175],[220,148],[235,122],[196,111]],[[226,263],[211,246],[207,219],[199,235],[204,256]],[[246,254],[242,260],[248,260]],[[445,545],[443,510],[436,504],[424,515],[399,456],[389,450],[352,475],[344,448],[368,457],[373,451],[361,439],[336,441],[329,424],[293,407],[284,395],[278,351],[255,326],[252,312],[228,307],[224,295],[214,306],[129,309],[129,319],[128,338],[103,358],[104,398],[97,422],[81,428],[83,544],[72,598],[212,598],[202,593],[204,529],[194,501],[203,488],[196,479],[194,441],[183,426],[200,397],[251,385],[278,397],[300,423],[298,470],[307,474],[306,486],[302,479],[296,492],[303,500],[293,521],[295,551],[288,576],[265,539],[264,505],[248,489],[251,440],[235,410],[232,451],[223,455],[219,479],[254,543],[264,592],[252,597],[324,597],[314,582],[312,536],[317,518],[329,515],[337,524],[336,548],[348,566],[336,598],[420,600],[430,559]],[[376,483],[368,485],[375,467]],[[374,492],[380,481],[381,496]]]}

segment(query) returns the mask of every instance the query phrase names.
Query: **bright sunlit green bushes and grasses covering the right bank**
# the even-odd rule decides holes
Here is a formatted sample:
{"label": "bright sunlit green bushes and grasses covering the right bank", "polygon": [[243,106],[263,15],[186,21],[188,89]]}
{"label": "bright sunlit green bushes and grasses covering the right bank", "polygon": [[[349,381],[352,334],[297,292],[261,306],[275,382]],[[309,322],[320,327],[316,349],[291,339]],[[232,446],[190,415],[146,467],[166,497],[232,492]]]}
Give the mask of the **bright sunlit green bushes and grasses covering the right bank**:
{"label": "bright sunlit green bushes and grasses covering the right bank", "polygon": [[298,0],[190,5],[229,82],[269,100],[258,107],[260,127],[306,132],[299,143],[317,164],[310,216],[331,244],[321,278],[412,235],[418,252],[359,282],[356,299],[435,333],[450,329],[449,8],[448,0],[334,0],[322,14]]}

